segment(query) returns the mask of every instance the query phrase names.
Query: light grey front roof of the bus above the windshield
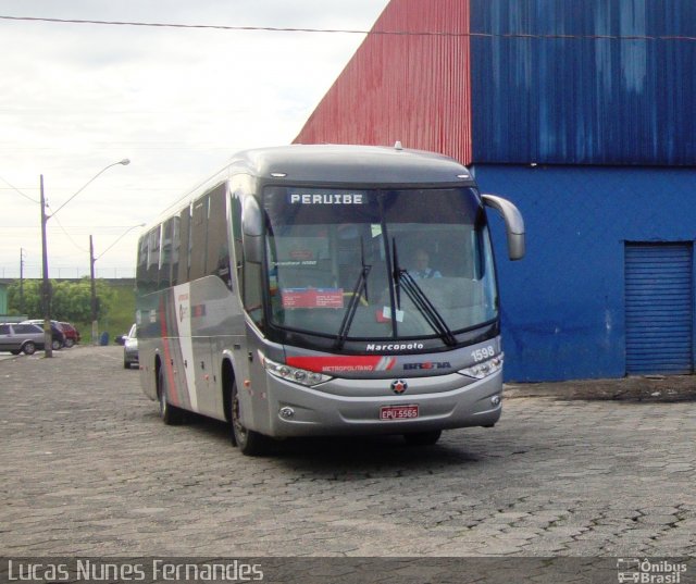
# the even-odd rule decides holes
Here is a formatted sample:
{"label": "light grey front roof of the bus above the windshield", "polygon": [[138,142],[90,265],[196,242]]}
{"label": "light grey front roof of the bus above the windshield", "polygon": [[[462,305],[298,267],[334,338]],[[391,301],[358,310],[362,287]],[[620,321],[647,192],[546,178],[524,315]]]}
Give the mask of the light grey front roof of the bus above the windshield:
{"label": "light grey front roof of the bus above the windshield", "polygon": [[472,184],[465,166],[434,152],[380,146],[291,145],[233,157],[233,174],[291,182]]}

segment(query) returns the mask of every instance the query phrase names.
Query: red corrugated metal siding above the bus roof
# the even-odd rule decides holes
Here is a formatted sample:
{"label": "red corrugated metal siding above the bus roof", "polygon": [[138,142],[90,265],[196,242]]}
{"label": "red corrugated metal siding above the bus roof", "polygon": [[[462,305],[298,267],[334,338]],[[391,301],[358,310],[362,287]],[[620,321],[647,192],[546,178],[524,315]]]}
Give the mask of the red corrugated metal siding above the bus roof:
{"label": "red corrugated metal siding above the bus roof", "polygon": [[[469,0],[393,0],[378,32],[469,30]],[[467,36],[370,34],[295,142],[393,145],[471,160]]]}

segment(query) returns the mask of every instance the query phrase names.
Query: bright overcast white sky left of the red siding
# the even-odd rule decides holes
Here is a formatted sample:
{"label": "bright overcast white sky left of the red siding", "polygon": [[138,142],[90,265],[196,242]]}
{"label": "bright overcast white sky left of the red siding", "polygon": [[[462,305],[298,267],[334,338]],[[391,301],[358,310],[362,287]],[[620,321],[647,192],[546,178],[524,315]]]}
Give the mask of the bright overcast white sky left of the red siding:
{"label": "bright overcast white sky left of the red siding", "polygon": [[[0,16],[369,30],[388,0],[0,0]],[[245,148],[289,144],[364,36],[0,18],[0,277],[134,275],[134,227]],[[125,235],[124,235],[125,234]],[[21,251],[22,250],[22,251]]]}

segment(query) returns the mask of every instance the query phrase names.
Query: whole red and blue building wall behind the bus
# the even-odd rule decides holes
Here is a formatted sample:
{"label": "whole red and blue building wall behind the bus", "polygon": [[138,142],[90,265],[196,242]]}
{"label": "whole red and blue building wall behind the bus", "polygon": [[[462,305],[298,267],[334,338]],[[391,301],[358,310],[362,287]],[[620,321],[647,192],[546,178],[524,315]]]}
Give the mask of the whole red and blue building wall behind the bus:
{"label": "whole red and blue building wall behind the bus", "polygon": [[[449,36],[378,34],[399,29]],[[472,164],[527,226],[527,257],[510,263],[494,220],[507,378],[623,376],[626,248],[693,256],[695,29],[692,0],[391,0],[296,141],[398,139]],[[666,331],[655,346],[669,352]]]}

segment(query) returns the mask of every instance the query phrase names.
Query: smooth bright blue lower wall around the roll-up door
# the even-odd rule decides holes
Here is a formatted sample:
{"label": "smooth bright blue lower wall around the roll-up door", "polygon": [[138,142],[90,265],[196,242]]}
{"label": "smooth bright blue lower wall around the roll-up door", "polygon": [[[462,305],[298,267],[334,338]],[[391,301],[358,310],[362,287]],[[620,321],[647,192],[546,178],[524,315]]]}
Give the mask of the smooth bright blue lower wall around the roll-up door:
{"label": "smooth bright blue lower wall around the roll-up door", "polygon": [[696,238],[696,169],[474,171],[483,191],[519,206],[527,229],[527,256],[509,262],[502,222],[492,220],[506,378],[625,375],[625,244]]}

